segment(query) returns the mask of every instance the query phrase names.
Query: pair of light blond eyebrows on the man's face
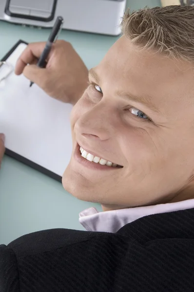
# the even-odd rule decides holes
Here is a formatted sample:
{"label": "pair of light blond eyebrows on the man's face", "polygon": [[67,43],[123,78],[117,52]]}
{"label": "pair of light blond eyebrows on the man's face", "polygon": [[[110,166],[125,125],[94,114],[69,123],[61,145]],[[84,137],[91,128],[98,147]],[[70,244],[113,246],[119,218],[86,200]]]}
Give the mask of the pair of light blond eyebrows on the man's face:
{"label": "pair of light blond eyebrows on the man's face", "polygon": [[[89,70],[89,77],[94,79],[96,81],[96,83],[99,84],[100,79],[99,79],[94,68]],[[120,90],[116,91],[116,94],[118,96],[124,97],[128,100],[141,103],[141,104],[145,105],[147,108],[149,108],[157,113],[158,112],[160,113],[160,111],[155,107],[155,104],[152,102],[152,97],[149,95],[139,96],[139,95],[134,95],[132,93],[128,93],[128,92],[120,91]]]}

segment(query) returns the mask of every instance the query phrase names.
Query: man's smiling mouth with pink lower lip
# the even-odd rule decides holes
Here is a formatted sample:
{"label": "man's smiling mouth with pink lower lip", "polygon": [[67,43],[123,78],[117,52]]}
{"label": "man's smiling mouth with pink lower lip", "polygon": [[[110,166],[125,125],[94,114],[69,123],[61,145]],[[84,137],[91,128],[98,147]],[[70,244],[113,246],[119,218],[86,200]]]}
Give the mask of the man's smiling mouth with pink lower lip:
{"label": "man's smiling mouth with pink lower lip", "polygon": [[[83,153],[83,151],[82,151],[82,153]],[[118,170],[120,168],[123,168],[123,166],[118,165],[118,164],[106,165],[106,164],[104,164],[106,161],[103,159],[102,159],[101,163],[103,163],[104,165],[100,164],[99,162],[89,161],[88,159],[81,156],[82,153],[80,151],[80,146],[77,143],[76,149],[74,152],[74,157],[80,164],[82,164],[85,167],[89,167],[91,169],[99,169],[99,170],[116,170],[116,169]],[[88,152],[86,152],[86,153],[88,153]],[[98,161],[98,160],[96,160],[96,161]]]}

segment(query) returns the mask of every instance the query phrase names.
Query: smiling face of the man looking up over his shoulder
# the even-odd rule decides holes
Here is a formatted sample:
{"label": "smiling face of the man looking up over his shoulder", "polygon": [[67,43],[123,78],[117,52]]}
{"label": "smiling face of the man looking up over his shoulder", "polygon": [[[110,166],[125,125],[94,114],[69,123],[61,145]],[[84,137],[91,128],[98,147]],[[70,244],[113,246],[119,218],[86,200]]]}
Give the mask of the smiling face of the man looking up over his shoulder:
{"label": "smiling face of the man looking up over his shoulder", "polygon": [[[170,201],[194,175],[191,64],[139,50],[123,36],[94,70],[71,113],[64,188],[110,209]],[[123,167],[78,162],[77,143]]]}

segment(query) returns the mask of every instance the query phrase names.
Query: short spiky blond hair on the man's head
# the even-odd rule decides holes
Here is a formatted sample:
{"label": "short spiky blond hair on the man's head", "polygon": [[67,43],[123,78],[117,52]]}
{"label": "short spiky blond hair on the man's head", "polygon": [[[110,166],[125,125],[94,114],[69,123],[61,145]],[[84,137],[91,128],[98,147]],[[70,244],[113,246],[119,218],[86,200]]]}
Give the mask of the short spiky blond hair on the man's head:
{"label": "short spiky blond hair on the man's head", "polygon": [[194,61],[194,7],[172,5],[128,9],[121,22],[123,34],[145,50]]}

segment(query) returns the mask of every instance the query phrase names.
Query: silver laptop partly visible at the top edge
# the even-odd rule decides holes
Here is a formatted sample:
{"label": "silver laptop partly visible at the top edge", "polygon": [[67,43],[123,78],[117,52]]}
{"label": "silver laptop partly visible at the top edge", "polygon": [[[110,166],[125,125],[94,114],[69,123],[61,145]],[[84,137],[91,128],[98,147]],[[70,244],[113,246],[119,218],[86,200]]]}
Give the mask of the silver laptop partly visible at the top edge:
{"label": "silver laptop partly visible at the top edge", "polygon": [[0,0],[0,19],[52,27],[62,16],[63,29],[117,36],[125,6],[126,0]]}

